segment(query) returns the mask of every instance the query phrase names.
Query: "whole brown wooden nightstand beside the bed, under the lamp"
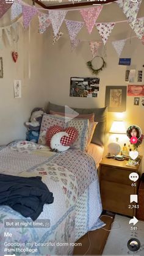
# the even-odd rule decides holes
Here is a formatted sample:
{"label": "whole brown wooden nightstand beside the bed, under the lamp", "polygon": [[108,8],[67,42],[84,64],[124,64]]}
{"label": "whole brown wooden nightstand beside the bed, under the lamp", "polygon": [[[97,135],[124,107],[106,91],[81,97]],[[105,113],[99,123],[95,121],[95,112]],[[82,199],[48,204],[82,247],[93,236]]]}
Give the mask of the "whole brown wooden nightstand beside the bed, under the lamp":
{"label": "whole brown wooden nightstand beside the bed, under the lamp", "polygon": [[131,186],[129,180],[131,172],[137,172],[140,176],[140,165],[126,166],[128,161],[118,161],[115,159],[103,158],[99,164],[99,185],[101,191],[101,201],[103,210],[120,213],[126,216],[135,216],[136,209],[129,209],[130,195],[137,194],[139,180],[135,182],[137,186]]}

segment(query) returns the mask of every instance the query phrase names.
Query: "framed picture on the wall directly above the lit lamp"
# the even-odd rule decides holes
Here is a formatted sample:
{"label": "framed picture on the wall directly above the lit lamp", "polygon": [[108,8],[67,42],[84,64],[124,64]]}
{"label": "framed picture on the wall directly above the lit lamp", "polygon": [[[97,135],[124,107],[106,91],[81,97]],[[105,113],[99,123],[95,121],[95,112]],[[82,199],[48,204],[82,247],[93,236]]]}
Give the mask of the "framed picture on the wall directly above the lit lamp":
{"label": "framed picture on the wall directly above the lit lamp", "polygon": [[107,111],[126,111],[126,93],[126,86],[106,86],[105,106],[107,106]]}

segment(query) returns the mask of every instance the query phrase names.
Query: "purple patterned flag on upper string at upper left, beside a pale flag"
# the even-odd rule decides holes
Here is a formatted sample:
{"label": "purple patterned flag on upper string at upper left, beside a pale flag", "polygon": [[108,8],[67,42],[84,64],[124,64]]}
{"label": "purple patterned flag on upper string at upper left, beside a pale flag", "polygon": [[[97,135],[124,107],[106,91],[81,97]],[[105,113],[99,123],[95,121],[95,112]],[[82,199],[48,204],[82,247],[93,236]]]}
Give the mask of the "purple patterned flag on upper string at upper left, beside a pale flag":
{"label": "purple patterned flag on upper string at upper left, beside a pale flag", "polygon": [[23,23],[26,29],[29,26],[32,18],[37,14],[37,8],[29,5],[22,5],[23,9]]}

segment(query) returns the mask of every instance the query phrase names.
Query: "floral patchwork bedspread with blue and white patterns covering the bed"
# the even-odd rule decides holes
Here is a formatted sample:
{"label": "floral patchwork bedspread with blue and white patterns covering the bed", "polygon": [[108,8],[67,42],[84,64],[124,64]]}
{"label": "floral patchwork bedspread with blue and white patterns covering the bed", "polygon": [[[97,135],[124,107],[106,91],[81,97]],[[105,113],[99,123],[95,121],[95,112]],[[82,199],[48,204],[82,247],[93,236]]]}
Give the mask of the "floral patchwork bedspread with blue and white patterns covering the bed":
{"label": "floral patchwork bedspread with blue and white patterns covering the bed", "polygon": [[0,147],[0,173],[39,175],[54,194],[54,203],[45,204],[35,222],[0,206],[0,256],[71,255],[82,235],[104,225],[99,220],[102,208],[95,161],[87,154],[54,153],[33,142],[17,141]]}

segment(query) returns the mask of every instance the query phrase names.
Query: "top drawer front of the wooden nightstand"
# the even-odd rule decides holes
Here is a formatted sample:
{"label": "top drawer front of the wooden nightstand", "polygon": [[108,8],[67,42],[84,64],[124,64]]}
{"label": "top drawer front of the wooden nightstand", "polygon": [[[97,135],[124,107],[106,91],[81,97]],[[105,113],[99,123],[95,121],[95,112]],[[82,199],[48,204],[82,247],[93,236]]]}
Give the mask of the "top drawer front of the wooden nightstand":
{"label": "top drawer front of the wooden nightstand", "polygon": [[132,181],[129,180],[131,172],[131,170],[119,169],[114,166],[101,166],[101,180],[131,186]]}

